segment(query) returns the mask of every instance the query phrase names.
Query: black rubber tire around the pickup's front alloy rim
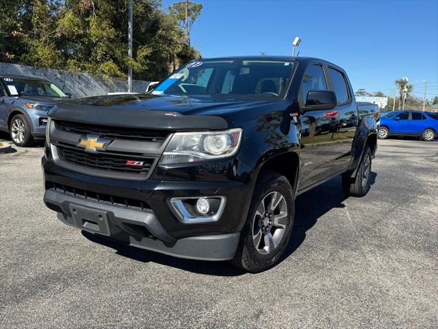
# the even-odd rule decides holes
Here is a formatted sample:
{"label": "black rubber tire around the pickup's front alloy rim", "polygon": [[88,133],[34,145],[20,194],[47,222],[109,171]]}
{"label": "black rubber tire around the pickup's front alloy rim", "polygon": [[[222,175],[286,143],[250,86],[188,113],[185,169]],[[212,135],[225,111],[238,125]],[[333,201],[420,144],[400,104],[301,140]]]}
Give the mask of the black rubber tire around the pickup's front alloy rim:
{"label": "black rubber tire around the pickup's front alloy rim", "polygon": [[[266,232],[262,230],[261,223],[263,223],[264,220],[269,220],[268,216],[266,217],[259,217],[257,214],[259,213],[258,208],[261,205],[261,202],[265,201],[266,198],[270,197],[270,195],[275,195],[277,199],[280,199],[280,202],[282,202],[283,207],[286,207],[287,209],[286,214],[283,216],[281,215],[282,212],[275,215],[275,210],[272,212],[273,218],[278,216],[281,217],[281,223],[285,226],[285,228],[279,228],[276,227],[275,224],[271,224],[269,226],[269,230],[272,230],[268,232],[268,227],[265,228],[265,226],[262,226],[266,229]],[[283,199],[281,199],[281,196],[283,196]],[[270,204],[272,200],[268,199],[269,207],[268,210],[270,210]],[[280,204],[279,202],[279,204]],[[284,203],[283,203],[284,202]],[[275,203],[275,202],[273,202]],[[263,210],[266,210],[263,207]],[[268,211],[266,210],[266,211]],[[289,184],[289,181],[285,176],[280,175],[279,173],[273,172],[273,171],[264,171],[261,173],[261,176],[259,177],[259,180],[257,181],[257,184],[255,186],[255,190],[253,193],[252,202],[250,205],[250,209],[248,211],[248,217],[246,218],[245,226],[240,234],[240,242],[237,247],[237,252],[235,253],[235,257],[231,261],[233,265],[240,267],[241,269],[244,269],[244,271],[248,271],[251,273],[257,273],[261,271],[265,271],[266,269],[269,269],[270,267],[274,266],[276,263],[278,263],[279,259],[281,258],[281,255],[285,251],[287,247],[287,243],[289,243],[290,235],[292,233],[292,228],[294,226],[294,217],[295,217],[295,200],[294,200],[294,193],[292,186]],[[259,219],[257,219],[259,218]],[[257,228],[255,221],[257,221]],[[275,219],[272,219],[272,222],[275,222]],[[269,221],[270,223],[270,221]],[[259,247],[260,245],[255,245],[255,241],[253,241],[253,232],[257,230],[258,232],[261,232],[261,236],[263,236],[263,241],[261,238],[259,241],[263,244],[265,239],[269,237],[267,234],[270,235],[269,241],[274,241],[274,236],[276,234],[276,230],[280,229],[281,232],[279,234],[283,234],[281,238],[279,238],[279,241],[277,241],[276,247],[273,247],[274,244],[272,244],[272,252],[266,252],[266,254],[261,254]],[[277,234],[278,235],[278,234]],[[268,246],[266,246],[267,249],[269,249]],[[264,249],[262,249],[263,251]]]}

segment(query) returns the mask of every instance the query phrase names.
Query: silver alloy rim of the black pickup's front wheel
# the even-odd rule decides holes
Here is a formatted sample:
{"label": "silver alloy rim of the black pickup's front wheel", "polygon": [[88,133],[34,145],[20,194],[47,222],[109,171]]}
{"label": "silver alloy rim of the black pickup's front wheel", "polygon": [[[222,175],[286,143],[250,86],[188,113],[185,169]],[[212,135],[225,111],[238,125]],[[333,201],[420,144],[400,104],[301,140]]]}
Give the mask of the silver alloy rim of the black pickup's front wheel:
{"label": "silver alloy rim of the black pickup's front wheel", "polygon": [[279,246],[288,221],[286,199],[280,192],[263,197],[253,218],[253,243],[259,254],[270,254]]}

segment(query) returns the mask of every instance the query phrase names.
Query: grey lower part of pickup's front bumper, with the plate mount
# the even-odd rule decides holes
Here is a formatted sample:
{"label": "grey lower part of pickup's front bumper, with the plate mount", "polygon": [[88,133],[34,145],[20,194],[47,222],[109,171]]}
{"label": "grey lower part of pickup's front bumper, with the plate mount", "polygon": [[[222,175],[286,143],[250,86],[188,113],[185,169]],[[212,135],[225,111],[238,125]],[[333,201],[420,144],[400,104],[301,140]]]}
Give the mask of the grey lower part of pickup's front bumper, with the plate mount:
{"label": "grey lower part of pickup's front bumper, with the plate mount", "polygon": [[96,204],[52,189],[44,193],[44,203],[56,210],[58,219],[69,226],[181,258],[229,260],[233,258],[240,238],[239,233],[234,233],[176,239],[164,230],[150,210]]}

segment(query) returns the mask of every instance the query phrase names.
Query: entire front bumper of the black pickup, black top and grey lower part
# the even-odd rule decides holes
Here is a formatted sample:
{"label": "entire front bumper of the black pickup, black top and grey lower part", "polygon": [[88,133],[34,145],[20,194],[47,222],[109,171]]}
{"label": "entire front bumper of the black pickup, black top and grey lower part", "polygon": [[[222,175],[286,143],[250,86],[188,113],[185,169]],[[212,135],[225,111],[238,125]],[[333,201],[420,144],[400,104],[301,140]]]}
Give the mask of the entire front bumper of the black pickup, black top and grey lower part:
{"label": "entire front bumper of the black pickup, black top and grey lower part", "polygon": [[[253,188],[252,184],[242,182],[99,178],[69,171],[46,158],[42,158],[42,168],[46,186],[44,203],[58,212],[62,222],[135,247],[200,260],[233,258],[246,221],[250,203],[248,195]],[[69,193],[60,186],[88,191],[89,195],[75,195],[71,193],[75,190],[70,189]],[[91,193],[105,193],[114,196],[114,199],[129,197],[140,200],[142,207],[120,206],[120,203],[112,204],[102,199],[99,202],[99,196],[93,199]],[[220,219],[209,223],[181,222],[172,212],[169,200],[172,197],[200,195],[226,197],[227,203]],[[75,209],[82,215],[73,215],[73,207],[77,207]],[[99,215],[103,217],[103,223],[99,222]]]}

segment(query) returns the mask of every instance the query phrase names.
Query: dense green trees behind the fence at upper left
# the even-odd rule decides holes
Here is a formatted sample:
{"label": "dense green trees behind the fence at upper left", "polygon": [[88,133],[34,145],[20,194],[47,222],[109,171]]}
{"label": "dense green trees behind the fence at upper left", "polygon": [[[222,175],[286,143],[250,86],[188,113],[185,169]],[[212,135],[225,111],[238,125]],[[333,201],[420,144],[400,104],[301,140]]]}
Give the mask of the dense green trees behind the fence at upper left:
{"label": "dense green trees behind the fence at upper left", "polygon": [[133,58],[127,56],[127,0],[0,0],[0,60],[32,66],[161,80],[201,55],[185,45],[175,14],[136,0]]}

